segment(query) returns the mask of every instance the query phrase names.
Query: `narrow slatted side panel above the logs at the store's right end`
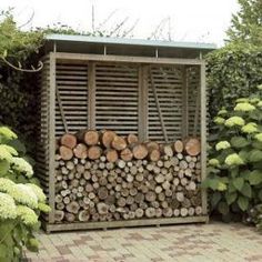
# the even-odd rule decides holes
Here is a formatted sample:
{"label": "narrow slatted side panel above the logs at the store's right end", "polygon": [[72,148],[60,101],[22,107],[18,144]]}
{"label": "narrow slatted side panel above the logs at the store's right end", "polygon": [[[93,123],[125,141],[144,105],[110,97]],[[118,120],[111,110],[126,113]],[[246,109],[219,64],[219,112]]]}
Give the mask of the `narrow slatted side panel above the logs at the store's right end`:
{"label": "narrow slatted side panel above the logs at the store's right end", "polygon": [[[200,69],[198,67],[188,68],[188,107],[189,107],[189,135],[200,135]],[[196,111],[198,110],[198,111]]]}

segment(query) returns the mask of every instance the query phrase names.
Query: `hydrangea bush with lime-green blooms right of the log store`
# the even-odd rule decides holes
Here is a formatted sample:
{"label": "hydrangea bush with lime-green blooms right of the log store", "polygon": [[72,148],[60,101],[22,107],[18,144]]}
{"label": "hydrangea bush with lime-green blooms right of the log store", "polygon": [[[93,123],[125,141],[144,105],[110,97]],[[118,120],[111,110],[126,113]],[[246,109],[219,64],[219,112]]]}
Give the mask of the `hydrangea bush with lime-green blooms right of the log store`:
{"label": "hydrangea bush with lime-green blooms right of the log store", "polygon": [[261,89],[238,99],[233,110],[223,108],[214,119],[218,131],[210,138],[209,175],[203,187],[211,191],[211,208],[226,221],[234,215],[246,218],[262,203]]}

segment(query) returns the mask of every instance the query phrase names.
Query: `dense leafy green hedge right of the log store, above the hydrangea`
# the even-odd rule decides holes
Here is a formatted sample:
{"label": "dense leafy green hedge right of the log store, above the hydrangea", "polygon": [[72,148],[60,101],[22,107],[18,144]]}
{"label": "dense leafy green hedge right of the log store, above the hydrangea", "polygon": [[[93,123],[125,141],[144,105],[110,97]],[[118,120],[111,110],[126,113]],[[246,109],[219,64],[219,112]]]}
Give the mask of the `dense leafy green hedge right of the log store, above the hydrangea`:
{"label": "dense leafy green hedge right of the log store, above the hydrangea", "polygon": [[222,107],[232,109],[232,101],[249,97],[262,83],[262,48],[229,44],[208,54],[206,61],[211,119]]}

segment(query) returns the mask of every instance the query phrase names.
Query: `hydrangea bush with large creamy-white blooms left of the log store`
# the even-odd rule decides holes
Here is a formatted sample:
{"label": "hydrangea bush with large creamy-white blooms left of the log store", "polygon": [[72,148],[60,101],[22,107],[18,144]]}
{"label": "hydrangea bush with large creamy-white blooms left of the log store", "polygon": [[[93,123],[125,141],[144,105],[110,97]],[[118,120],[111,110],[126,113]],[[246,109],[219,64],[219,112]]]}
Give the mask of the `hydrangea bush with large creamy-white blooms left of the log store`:
{"label": "hydrangea bush with large creamy-white blooms left of the log store", "polygon": [[34,183],[32,167],[10,144],[17,139],[0,127],[0,261],[20,261],[23,246],[38,251],[34,233],[40,212],[49,212],[43,191]]}

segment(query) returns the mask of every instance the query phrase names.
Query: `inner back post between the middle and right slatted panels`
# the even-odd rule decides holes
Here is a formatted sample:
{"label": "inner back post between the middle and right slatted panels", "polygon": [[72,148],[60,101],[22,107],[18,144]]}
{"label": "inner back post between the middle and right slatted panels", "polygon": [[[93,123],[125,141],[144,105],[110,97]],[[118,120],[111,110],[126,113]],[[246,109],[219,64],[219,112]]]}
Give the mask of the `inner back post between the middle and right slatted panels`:
{"label": "inner back post between the middle and right slatted panels", "polygon": [[149,108],[149,67],[140,66],[139,67],[139,140],[148,140],[148,108]]}

